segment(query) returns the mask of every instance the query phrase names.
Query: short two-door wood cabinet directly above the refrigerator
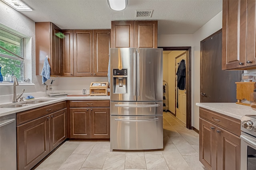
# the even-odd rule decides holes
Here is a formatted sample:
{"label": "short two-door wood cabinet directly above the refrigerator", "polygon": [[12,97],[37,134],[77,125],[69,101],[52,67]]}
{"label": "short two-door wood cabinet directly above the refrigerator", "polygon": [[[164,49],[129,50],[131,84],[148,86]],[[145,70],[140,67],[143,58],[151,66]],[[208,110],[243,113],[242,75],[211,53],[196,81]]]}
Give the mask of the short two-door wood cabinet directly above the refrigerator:
{"label": "short two-door wood cabinet directly above the refrigerator", "polygon": [[157,48],[158,21],[112,21],[111,48]]}

